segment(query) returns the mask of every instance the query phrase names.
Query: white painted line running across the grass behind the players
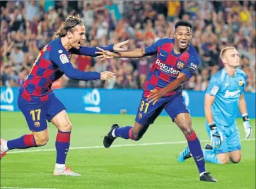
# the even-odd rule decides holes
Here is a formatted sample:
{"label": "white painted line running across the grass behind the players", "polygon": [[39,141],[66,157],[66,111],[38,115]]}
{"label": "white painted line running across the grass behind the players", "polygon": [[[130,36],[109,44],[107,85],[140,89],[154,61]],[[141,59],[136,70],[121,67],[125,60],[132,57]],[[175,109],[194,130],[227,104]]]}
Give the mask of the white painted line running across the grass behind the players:
{"label": "white painted line running across the grass behind the players", "polygon": [[[255,141],[255,138],[250,138],[247,140],[241,141]],[[200,142],[210,142],[209,140],[202,140]],[[184,144],[187,141],[174,141],[174,142],[154,142],[154,143],[135,143],[129,145],[112,145],[111,147],[129,147],[129,146],[155,146],[155,145],[177,145],[177,144]],[[82,147],[71,147],[69,150],[79,150],[79,149],[93,149],[93,148],[104,148],[104,146],[82,146]],[[49,149],[38,149],[38,150],[21,150],[21,151],[13,151],[8,153],[31,153],[31,152],[50,152],[55,151],[55,148]]]}

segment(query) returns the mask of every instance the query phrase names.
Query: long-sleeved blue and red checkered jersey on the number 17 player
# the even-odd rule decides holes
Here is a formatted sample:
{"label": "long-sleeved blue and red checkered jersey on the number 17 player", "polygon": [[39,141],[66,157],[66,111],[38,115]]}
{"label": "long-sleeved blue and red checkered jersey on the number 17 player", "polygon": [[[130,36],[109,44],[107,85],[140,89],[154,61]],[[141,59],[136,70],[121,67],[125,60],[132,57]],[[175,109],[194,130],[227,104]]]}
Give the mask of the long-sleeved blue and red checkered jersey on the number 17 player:
{"label": "long-sleeved blue and red checkered jersey on the number 17 player", "polygon": [[[100,48],[113,51],[113,44]],[[27,101],[46,101],[49,98],[49,93],[52,92],[52,83],[64,73],[71,79],[100,79],[100,73],[82,72],[75,69],[70,62],[72,54],[98,56],[95,54],[97,51],[96,47],[83,46],[80,49],[71,48],[66,51],[61,43],[61,38],[51,41],[38,54],[25,83],[20,88],[21,96]]]}

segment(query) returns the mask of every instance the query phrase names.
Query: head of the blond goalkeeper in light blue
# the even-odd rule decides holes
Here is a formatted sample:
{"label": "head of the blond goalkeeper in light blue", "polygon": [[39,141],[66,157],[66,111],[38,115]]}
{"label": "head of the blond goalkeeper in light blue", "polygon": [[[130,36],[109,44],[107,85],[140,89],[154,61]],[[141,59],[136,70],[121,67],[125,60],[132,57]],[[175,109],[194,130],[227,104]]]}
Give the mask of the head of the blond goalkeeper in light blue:
{"label": "head of the blond goalkeeper in light blue", "polygon": [[224,56],[223,62],[231,67],[238,67],[240,65],[239,53],[236,49],[228,49]]}

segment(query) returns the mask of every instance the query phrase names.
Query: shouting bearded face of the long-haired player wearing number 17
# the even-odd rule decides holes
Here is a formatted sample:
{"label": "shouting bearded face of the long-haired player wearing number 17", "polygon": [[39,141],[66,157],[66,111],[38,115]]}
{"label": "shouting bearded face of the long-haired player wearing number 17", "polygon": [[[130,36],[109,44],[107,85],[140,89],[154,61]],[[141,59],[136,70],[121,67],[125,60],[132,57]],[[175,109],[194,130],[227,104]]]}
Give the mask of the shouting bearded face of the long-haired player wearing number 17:
{"label": "shouting bearded face of the long-haired player wearing number 17", "polygon": [[69,33],[69,43],[72,48],[79,49],[81,42],[85,40],[85,27],[79,24],[74,27],[73,31]]}

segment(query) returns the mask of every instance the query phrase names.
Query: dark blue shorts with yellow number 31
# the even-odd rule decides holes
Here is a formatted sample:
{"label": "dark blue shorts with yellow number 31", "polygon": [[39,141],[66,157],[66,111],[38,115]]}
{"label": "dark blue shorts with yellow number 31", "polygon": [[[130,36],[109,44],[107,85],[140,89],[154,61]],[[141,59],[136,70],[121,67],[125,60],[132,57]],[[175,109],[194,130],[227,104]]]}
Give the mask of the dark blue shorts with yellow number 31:
{"label": "dark blue shorts with yellow number 31", "polygon": [[160,98],[154,105],[148,103],[147,98],[142,96],[135,121],[142,125],[151,125],[163,109],[172,118],[173,122],[180,113],[189,113],[181,94]]}

